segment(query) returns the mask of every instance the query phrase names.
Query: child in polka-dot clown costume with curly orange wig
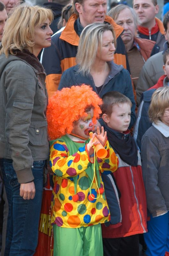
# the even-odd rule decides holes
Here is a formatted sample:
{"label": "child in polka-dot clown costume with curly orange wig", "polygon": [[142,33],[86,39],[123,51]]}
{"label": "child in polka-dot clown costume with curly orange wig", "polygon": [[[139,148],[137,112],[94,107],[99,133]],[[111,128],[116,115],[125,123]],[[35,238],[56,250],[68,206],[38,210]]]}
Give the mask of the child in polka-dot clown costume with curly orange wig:
{"label": "child in polka-dot clown costume with curly orange wig", "polygon": [[[101,223],[110,220],[101,173],[117,169],[117,157],[102,127],[89,139],[102,100],[88,85],[57,91],[47,108],[50,166],[54,172],[54,256],[102,256]],[[108,154],[95,156],[97,137]]]}

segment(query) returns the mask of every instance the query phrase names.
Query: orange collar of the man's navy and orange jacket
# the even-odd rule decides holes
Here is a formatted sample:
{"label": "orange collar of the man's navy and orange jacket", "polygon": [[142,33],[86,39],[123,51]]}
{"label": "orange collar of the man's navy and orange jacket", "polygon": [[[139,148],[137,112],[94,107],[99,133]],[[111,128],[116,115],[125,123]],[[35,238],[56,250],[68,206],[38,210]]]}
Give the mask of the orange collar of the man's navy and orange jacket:
{"label": "orange collar of the man's navy and orange jacket", "polygon": [[[69,44],[78,46],[79,45],[79,36],[74,30],[74,22],[77,20],[78,16],[76,14],[72,14],[67,21],[65,29],[62,31],[60,35],[60,39],[66,41]],[[123,28],[116,24],[116,22],[109,16],[106,15],[105,22],[111,24],[115,30],[116,38],[123,33]]]}

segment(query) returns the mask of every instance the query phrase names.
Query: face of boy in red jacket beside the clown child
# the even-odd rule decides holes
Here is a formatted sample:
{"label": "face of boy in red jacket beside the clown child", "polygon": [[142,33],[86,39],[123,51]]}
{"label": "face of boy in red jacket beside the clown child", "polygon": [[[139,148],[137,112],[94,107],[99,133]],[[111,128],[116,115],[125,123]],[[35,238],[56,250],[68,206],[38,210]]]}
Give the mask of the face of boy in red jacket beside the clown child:
{"label": "face of boy in red jacket beside the clown child", "polygon": [[103,114],[105,123],[113,130],[118,132],[127,131],[131,119],[131,107],[129,103],[119,103],[112,107],[111,116]]}

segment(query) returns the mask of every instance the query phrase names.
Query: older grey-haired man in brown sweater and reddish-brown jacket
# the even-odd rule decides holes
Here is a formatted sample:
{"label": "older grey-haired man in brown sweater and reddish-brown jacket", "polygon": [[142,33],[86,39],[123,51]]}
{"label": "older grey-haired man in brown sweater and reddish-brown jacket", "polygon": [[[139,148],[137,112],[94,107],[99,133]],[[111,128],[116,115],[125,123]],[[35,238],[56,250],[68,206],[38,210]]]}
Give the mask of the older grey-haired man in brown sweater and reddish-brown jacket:
{"label": "older grey-haired man in brown sweater and reddish-brown jacket", "polygon": [[131,7],[119,4],[112,8],[108,15],[124,29],[121,38],[127,51],[131,77],[136,88],[140,71],[150,57],[155,42],[138,37],[139,20],[137,13]]}

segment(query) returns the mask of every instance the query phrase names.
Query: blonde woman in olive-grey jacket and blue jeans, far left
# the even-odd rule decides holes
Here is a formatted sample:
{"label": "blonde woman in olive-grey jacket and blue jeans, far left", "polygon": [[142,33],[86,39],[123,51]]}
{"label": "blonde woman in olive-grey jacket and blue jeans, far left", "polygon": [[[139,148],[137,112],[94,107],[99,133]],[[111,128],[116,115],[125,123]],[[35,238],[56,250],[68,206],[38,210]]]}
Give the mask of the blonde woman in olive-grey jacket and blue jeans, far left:
{"label": "blonde woman in olive-grey jacket and blue jeans, far left", "polygon": [[20,5],[6,22],[0,56],[0,166],[9,203],[5,255],[33,255],[48,158],[46,74],[50,10]]}

